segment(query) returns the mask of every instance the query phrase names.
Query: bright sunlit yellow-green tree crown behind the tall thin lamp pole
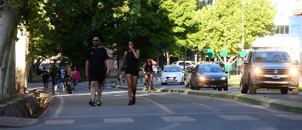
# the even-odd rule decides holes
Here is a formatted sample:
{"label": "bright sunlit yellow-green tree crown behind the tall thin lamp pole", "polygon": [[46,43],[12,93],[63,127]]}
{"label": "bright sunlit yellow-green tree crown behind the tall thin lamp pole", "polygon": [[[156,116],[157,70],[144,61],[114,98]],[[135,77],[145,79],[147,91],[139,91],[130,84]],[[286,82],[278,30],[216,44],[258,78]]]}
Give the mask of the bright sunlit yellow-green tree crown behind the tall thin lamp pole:
{"label": "bright sunlit yellow-green tree crown behind the tall thin lamp pole", "polygon": [[[276,9],[268,0],[245,0],[244,5],[244,47],[258,37],[272,35],[275,30]],[[215,53],[227,50],[229,56],[239,53],[237,44],[242,37],[242,1],[216,0],[213,6],[207,5],[194,15],[199,31],[188,34],[192,47],[212,48]]]}

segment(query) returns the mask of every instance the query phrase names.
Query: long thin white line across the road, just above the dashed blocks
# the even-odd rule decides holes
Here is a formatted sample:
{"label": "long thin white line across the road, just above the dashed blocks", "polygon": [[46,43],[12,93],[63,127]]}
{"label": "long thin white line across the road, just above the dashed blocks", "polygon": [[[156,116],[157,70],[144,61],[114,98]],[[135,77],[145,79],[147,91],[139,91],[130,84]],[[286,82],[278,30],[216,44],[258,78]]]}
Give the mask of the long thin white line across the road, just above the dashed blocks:
{"label": "long thin white line across the road, just above the dashed blocks", "polygon": [[[52,118],[82,118],[82,117],[118,117],[118,116],[147,116],[147,115],[211,115],[211,114],[268,114],[267,112],[191,112],[191,113],[150,113],[150,114],[115,114],[115,115],[70,115]],[[284,112],[282,114],[288,114]],[[273,114],[268,114],[273,115]]]}

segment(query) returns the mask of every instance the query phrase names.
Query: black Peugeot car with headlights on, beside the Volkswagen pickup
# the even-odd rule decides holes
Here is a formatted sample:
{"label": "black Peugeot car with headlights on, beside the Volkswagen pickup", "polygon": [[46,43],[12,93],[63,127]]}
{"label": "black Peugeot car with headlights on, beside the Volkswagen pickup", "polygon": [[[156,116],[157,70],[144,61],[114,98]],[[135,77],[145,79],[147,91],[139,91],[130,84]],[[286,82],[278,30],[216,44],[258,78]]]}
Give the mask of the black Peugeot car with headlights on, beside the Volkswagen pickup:
{"label": "black Peugeot car with headlights on, beside the Volkswagen pickup", "polygon": [[218,91],[228,90],[228,71],[223,69],[218,64],[199,64],[191,74],[191,89],[199,90],[201,88],[213,88]]}

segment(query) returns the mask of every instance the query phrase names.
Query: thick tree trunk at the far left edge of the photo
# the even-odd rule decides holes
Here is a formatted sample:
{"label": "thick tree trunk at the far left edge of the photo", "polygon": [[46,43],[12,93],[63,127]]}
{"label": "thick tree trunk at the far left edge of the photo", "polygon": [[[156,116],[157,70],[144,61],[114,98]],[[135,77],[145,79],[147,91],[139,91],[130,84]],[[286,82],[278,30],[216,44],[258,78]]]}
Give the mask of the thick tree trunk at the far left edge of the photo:
{"label": "thick tree trunk at the far left edge of the photo", "polygon": [[[18,1],[24,2],[24,0]],[[3,97],[13,96],[11,94],[15,93],[10,91],[12,90],[10,87],[15,87],[15,83],[11,83],[14,79],[13,77],[15,77],[15,70],[10,65],[15,63],[15,42],[13,42],[13,37],[16,36],[17,31],[13,30],[17,28],[20,22],[21,10],[16,6],[8,8],[8,4],[11,4],[11,2],[11,0],[7,0],[0,3],[0,100],[3,100]]]}

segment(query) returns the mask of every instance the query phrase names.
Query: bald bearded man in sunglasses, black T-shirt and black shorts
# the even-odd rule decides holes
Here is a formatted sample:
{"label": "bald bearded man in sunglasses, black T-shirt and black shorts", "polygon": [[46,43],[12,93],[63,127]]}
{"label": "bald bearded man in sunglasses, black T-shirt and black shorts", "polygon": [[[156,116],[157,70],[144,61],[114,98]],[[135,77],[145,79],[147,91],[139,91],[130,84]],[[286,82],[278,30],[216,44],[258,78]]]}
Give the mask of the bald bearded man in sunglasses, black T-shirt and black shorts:
{"label": "bald bearded man in sunglasses, black T-shirt and black shorts", "polygon": [[[102,83],[104,82],[105,73],[107,76],[110,75],[110,70],[105,70],[105,64],[107,68],[109,67],[109,55],[104,47],[100,46],[100,40],[98,37],[94,37],[92,40],[93,47],[89,48],[86,57],[86,77],[89,78],[90,82],[90,93],[91,100],[89,105],[91,106],[101,106],[101,93],[102,93]],[[97,101],[95,102],[95,85],[98,86]]]}

